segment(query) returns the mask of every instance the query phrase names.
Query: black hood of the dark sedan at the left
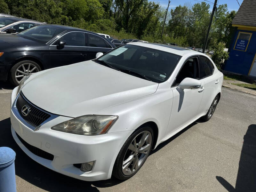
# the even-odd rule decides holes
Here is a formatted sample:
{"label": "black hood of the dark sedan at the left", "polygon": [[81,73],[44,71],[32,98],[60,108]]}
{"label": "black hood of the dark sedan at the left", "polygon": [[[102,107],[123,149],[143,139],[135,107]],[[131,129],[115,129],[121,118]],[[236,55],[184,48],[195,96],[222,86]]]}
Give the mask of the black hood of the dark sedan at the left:
{"label": "black hood of the dark sedan at the left", "polygon": [[7,48],[7,47],[20,47],[20,46],[33,46],[39,45],[36,41],[32,41],[29,39],[25,39],[23,37],[13,35],[13,34],[0,34],[0,48]]}

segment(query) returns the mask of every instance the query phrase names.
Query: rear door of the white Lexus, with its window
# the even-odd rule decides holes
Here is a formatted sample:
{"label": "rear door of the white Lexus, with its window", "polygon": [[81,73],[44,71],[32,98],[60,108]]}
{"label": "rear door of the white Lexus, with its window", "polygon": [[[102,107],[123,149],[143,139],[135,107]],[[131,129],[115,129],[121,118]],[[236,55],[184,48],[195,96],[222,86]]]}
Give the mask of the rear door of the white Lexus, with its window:
{"label": "rear door of the white Lexus, with its window", "polygon": [[199,113],[207,112],[210,105],[217,94],[218,86],[220,83],[220,74],[218,71],[214,73],[214,66],[212,61],[207,57],[199,56],[199,69],[200,69],[200,80],[204,81],[204,97],[202,99]]}

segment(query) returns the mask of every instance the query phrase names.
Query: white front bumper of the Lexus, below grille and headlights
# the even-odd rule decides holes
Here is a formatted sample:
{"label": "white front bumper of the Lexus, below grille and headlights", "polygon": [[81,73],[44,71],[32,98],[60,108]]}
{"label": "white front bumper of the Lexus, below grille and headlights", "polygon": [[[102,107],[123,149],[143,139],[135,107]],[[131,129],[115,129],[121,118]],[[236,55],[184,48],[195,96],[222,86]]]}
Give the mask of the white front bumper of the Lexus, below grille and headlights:
{"label": "white front bumper of the Lexus, below grille and headlights", "polygon": [[[15,90],[17,89],[13,90],[11,104],[15,100]],[[53,171],[86,181],[106,180],[111,177],[116,156],[132,132],[88,136],[51,130],[53,125],[71,119],[63,116],[58,116],[43,124],[39,130],[33,131],[14,114],[11,109],[12,136],[29,157]],[[42,158],[29,151],[16,134],[29,145],[52,154],[53,160]],[[73,165],[91,161],[95,163],[90,172],[82,172]]]}

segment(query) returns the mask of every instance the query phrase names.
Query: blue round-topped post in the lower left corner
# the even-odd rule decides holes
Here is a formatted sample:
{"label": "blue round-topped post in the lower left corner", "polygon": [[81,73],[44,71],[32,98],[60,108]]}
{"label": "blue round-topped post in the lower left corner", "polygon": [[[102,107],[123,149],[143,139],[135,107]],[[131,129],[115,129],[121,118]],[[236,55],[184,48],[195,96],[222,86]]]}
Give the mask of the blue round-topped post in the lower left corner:
{"label": "blue round-topped post in the lower left corner", "polygon": [[15,152],[9,147],[0,147],[0,192],[16,192]]}

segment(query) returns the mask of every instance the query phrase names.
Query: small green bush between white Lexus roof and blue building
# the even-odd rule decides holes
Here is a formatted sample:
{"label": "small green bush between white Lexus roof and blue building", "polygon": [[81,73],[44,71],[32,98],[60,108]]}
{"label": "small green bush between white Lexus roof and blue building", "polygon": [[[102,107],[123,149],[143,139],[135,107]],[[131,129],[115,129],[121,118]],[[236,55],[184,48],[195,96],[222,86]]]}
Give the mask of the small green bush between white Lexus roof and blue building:
{"label": "small green bush between white Lexus roof and blue building", "polygon": [[218,69],[222,68],[224,60],[228,60],[228,52],[225,52],[224,49],[226,48],[223,42],[220,42],[216,45],[214,52],[212,54],[212,60],[215,63]]}

